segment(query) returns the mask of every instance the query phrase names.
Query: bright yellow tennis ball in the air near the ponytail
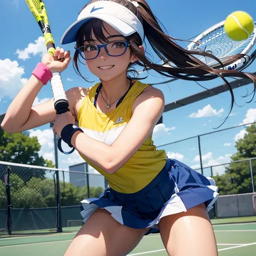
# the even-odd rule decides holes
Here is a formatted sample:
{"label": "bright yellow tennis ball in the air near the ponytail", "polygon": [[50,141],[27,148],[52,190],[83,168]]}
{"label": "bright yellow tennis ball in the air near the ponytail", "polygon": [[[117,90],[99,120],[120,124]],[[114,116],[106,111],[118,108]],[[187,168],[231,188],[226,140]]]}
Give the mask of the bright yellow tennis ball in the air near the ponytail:
{"label": "bright yellow tennis ball in the air near the ponytail", "polygon": [[235,11],[228,15],[224,29],[234,41],[242,41],[249,38],[254,30],[253,18],[244,11]]}

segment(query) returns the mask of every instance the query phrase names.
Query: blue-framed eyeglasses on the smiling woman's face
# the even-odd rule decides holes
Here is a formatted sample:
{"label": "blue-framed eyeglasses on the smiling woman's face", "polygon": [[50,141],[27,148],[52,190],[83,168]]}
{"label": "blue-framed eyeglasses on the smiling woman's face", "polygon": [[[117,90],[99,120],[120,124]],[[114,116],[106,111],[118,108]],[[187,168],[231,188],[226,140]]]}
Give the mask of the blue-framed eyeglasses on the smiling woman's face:
{"label": "blue-framed eyeglasses on the smiling woman's face", "polygon": [[83,46],[80,46],[76,50],[83,59],[87,60],[97,58],[100,52],[100,48],[104,48],[107,55],[109,56],[121,56],[126,52],[128,46],[130,46],[130,44],[126,41],[113,41],[107,44],[100,45],[85,44]]}

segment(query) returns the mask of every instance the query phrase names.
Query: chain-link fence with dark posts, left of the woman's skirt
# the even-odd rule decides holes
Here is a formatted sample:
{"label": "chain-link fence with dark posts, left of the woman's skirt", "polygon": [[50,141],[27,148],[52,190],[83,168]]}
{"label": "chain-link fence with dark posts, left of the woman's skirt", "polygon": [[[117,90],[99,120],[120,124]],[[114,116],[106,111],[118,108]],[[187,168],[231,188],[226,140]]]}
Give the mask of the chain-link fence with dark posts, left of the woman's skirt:
{"label": "chain-link fence with dark posts, left of the woman's skirt", "polygon": [[0,161],[0,237],[77,231],[80,201],[99,197],[104,184],[96,173]]}

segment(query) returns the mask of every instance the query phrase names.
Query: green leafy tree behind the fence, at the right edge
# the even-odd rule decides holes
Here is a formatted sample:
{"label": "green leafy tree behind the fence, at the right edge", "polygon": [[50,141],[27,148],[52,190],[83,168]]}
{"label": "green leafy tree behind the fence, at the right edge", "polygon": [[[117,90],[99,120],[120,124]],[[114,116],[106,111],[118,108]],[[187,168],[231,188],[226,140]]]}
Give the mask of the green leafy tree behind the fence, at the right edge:
{"label": "green leafy tree behind the fence, at the right edge", "polygon": [[[244,138],[239,139],[235,147],[237,152],[231,156],[232,161],[256,157],[256,127],[246,128]],[[256,160],[252,160],[254,187],[256,188]],[[226,167],[225,174],[215,176],[214,180],[219,187],[220,194],[240,194],[252,192],[252,179],[249,161],[231,163]]]}

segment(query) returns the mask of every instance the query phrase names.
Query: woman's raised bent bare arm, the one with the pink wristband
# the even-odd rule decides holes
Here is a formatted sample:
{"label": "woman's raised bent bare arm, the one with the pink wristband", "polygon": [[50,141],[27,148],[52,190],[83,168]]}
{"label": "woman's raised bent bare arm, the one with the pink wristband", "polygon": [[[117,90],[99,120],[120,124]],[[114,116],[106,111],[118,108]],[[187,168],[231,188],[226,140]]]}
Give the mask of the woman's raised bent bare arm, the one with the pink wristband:
{"label": "woman's raised bent bare arm, the one with the pink wristband", "polygon": [[[62,57],[64,57],[64,60],[59,61],[58,59],[62,59]],[[63,49],[59,48],[56,48],[56,57],[46,53],[42,58],[42,62],[52,72],[62,72],[67,68],[70,60],[70,52],[64,52]],[[1,124],[3,130],[9,133],[21,132],[53,121],[56,116],[53,99],[46,103],[32,106],[42,87],[43,83],[41,80],[32,75],[8,107]],[[72,95],[72,90],[67,93],[67,97],[68,95]],[[70,102],[70,111],[73,113],[72,101]]]}

